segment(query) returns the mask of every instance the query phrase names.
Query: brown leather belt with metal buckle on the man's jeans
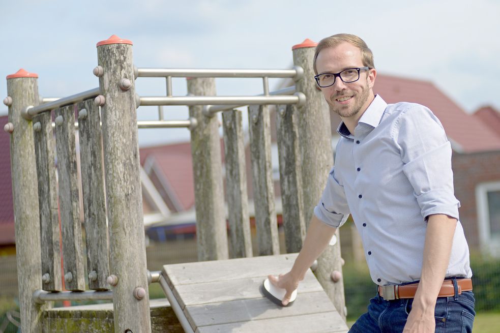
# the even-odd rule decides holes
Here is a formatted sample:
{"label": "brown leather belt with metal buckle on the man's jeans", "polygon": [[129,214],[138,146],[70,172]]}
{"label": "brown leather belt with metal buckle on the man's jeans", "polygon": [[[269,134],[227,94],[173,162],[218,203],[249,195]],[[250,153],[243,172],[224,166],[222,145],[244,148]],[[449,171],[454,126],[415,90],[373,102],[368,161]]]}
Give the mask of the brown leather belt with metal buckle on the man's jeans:
{"label": "brown leather belt with metal buckle on the man's jeans", "polygon": [[[378,294],[385,300],[393,300],[400,298],[414,298],[417,292],[418,283],[405,284],[405,285],[387,285],[378,286]],[[472,290],[472,280],[470,279],[457,279],[458,294],[462,291]],[[455,295],[455,287],[453,280],[445,280],[437,297],[450,297]]]}

